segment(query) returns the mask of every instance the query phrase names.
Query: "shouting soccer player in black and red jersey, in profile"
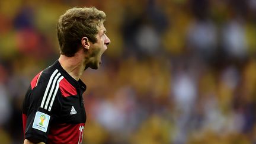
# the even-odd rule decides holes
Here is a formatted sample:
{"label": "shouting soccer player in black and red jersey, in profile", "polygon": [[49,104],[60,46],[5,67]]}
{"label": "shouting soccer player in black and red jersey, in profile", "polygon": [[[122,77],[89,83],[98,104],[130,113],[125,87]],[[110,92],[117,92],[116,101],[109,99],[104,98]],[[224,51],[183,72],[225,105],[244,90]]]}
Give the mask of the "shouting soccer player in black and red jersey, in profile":
{"label": "shouting soccer player in black and red jersey, in profile", "polygon": [[80,77],[98,69],[110,44],[105,13],[71,8],[57,23],[60,57],[31,81],[23,102],[24,143],[82,143],[86,120]]}

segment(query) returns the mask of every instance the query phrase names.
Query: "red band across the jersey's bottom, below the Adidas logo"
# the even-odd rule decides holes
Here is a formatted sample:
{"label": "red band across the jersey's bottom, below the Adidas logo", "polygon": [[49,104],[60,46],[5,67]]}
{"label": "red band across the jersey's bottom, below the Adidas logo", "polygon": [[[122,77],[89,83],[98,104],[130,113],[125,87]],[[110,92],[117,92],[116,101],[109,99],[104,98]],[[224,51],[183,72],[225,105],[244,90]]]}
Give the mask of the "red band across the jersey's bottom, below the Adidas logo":
{"label": "red band across the jersey's bottom, below the Adidas logo", "polygon": [[52,124],[47,143],[82,143],[84,123],[78,124]]}

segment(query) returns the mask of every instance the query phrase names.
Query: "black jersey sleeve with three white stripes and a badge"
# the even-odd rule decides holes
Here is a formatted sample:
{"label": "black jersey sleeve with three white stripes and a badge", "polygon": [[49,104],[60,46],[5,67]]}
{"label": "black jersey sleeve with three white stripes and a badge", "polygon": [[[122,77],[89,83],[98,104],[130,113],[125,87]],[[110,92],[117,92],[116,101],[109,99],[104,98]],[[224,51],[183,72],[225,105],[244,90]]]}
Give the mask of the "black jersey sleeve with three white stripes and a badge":
{"label": "black jersey sleeve with three white stripes and a badge", "polygon": [[28,88],[23,102],[24,137],[34,143],[46,143],[50,125],[62,106],[61,94],[54,81],[40,79],[33,86]]}

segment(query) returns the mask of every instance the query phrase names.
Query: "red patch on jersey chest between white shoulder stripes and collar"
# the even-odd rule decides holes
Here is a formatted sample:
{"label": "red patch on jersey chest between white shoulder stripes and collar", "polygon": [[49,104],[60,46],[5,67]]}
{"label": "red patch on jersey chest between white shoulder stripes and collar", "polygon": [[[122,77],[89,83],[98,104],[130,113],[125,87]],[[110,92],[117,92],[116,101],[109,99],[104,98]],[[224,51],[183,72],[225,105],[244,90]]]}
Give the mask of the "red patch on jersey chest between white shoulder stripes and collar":
{"label": "red patch on jersey chest between white shoulder stripes and collar", "polygon": [[71,85],[65,78],[60,81],[59,88],[64,97],[77,95],[75,87],[73,87],[73,85]]}

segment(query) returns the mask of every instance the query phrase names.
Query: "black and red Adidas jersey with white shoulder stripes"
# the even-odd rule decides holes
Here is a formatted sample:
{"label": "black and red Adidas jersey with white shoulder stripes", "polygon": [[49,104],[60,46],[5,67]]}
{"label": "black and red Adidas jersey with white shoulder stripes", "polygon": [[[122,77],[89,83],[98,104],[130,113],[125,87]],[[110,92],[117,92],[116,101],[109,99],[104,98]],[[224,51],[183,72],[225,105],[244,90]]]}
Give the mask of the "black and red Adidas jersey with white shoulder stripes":
{"label": "black and red Adidas jersey with white shoulder stripes", "polygon": [[23,102],[25,139],[44,143],[82,143],[86,120],[82,94],[86,85],[76,81],[57,60],[31,81]]}

